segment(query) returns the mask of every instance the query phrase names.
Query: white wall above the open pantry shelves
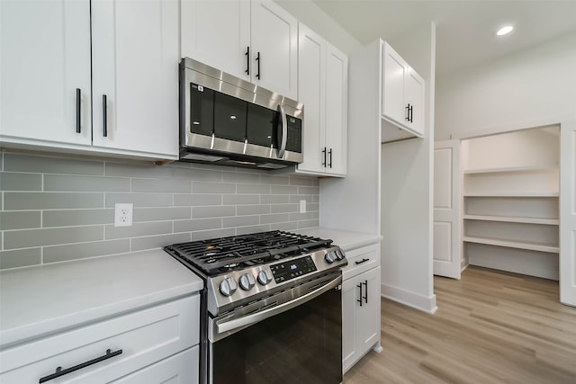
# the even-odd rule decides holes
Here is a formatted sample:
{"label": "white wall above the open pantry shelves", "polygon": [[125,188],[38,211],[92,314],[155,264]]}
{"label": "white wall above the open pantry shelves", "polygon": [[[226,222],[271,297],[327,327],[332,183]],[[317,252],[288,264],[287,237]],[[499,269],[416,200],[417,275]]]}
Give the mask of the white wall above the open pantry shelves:
{"label": "white wall above the open pantry shelves", "polygon": [[438,78],[436,106],[437,140],[574,118],[576,33]]}

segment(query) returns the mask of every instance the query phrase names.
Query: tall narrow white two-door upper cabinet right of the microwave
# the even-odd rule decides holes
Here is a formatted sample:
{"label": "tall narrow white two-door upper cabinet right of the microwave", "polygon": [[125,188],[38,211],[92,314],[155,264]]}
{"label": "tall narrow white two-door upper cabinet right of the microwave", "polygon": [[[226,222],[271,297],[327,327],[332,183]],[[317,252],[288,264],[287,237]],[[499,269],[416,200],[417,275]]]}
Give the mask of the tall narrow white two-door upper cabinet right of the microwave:
{"label": "tall narrow white two-door upper cabinet right of the microwave", "polygon": [[304,104],[303,174],[347,174],[348,59],[308,27],[299,27],[298,100]]}

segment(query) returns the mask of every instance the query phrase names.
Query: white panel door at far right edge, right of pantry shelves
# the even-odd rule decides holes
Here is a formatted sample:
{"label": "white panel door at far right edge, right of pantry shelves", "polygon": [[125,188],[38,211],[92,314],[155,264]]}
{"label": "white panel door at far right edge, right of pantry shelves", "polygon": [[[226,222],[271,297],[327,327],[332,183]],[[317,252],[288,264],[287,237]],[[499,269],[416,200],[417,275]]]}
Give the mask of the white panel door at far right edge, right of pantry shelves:
{"label": "white panel door at far right edge, right of pantry shelves", "polygon": [[576,121],[560,126],[560,301],[576,306]]}

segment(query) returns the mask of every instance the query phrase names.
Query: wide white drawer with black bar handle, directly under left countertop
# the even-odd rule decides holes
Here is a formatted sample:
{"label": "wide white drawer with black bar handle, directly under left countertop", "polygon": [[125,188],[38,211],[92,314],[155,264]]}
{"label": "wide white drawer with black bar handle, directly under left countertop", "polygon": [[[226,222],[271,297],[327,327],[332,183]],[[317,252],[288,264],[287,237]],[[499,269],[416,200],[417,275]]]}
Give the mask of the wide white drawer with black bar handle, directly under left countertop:
{"label": "wide white drawer with black bar handle, directly under left countertop", "polygon": [[199,343],[198,295],[112,317],[89,326],[0,353],[0,382],[39,382],[40,378],[121,350],[121,354],[73,371],[49,383],[103,383],[138,371]]}

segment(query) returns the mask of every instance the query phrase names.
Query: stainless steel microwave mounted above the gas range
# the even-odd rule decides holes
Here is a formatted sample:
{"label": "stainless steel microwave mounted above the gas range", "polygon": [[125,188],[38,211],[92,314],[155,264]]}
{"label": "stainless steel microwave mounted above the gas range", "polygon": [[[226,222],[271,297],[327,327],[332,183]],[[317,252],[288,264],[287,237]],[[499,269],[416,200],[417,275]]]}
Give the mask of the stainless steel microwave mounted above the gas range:
{"label": "stainless steel microwave mounted above the gas range", "polygon": [[302,103],[192,58],[180,62],[180,160],[283,168],[302,163]]}

